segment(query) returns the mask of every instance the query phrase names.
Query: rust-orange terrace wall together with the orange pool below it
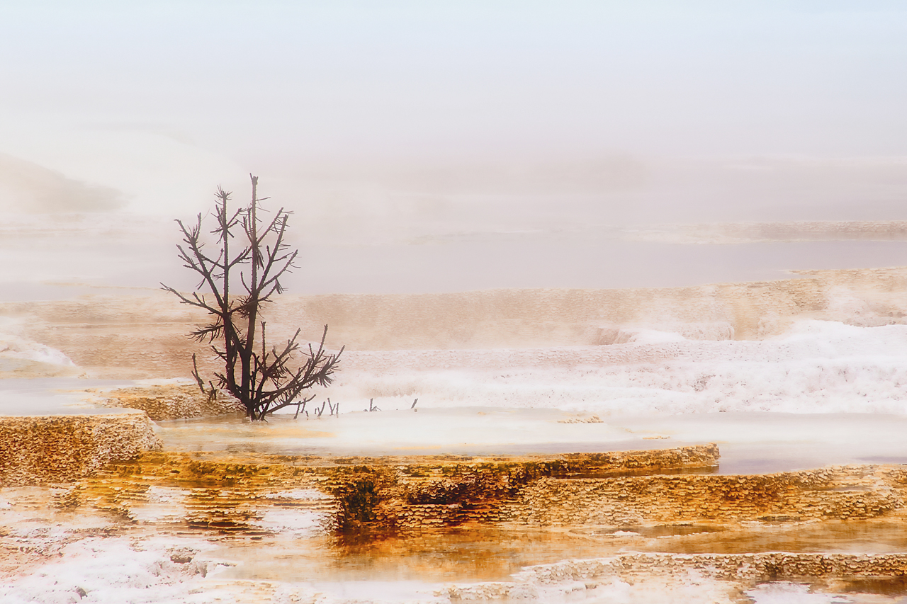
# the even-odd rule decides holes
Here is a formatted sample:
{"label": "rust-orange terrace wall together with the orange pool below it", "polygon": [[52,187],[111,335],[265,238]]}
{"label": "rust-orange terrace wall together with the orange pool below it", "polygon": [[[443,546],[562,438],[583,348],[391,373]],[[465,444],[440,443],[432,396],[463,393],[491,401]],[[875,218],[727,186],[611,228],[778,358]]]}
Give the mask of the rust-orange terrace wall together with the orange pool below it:
{"label": "rust-orange terrace wall together with the orange pool below it", "polygon": [[[44,493],[35,497],[51,497],[49,508],[47,501],[25,502],[28,488],[9,492],[18,493],[19,508],[49,510],[57,519],[106,517],[89,530],[97,534],[202,537],[237,555],[243,548],[279,550],[317,560],[321,577],[356,565],[393,574],[403,564],[405,578],[504,581],[540,563],[551,572],[567,565],[563,572],[593,582],[690,570],[741,585],[907,576],[907,554],[886,553],[907,547],[907,468],[704,473],[717,459],[715,445],[484,458],[158,451],[68,485],[33,489]],[[297,511],[317,518],[317,529],[300,538],[268,524]],[[877,553],[827,550],[854,540],[878,542]],[[0,535],[8,554],[0,555],[0,574],[53,553],[18,555],[16,542]]]}

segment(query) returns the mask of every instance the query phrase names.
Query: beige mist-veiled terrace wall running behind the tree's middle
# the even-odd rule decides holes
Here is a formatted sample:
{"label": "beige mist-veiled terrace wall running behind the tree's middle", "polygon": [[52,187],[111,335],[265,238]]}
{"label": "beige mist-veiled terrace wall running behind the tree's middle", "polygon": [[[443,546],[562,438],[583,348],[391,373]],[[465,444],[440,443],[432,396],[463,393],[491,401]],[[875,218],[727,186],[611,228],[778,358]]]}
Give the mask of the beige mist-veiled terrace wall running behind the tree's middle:
{"label": "beige mist-veiled terrace wall running behind the tree's middle", "polygon": [[[315,340],[327,324],[327,345],[346,345],[345,367],[355,371],[373,363],[369,354],[360,360],[357,351],[602,346],[631,340],[640,326],[692,340],[744,340],[781,334],[804,318],[902,324],[905,290],[907,268],[878,268],[801,271],[786,280],[697,287],[287,295],[270,311],[268,328],[278,334],[301,326],[303,336]],[[80,373],[139,378],[188,376],[198,346],[185,334],[204,319],[164,292],[6,302],[0,316],[20,322],[23,336],[62,351]],[[205,359],[200,356],[203,365]],[[455,360],[469,358],[461,354]],[[19,365],[5,371],[61,370]]]}

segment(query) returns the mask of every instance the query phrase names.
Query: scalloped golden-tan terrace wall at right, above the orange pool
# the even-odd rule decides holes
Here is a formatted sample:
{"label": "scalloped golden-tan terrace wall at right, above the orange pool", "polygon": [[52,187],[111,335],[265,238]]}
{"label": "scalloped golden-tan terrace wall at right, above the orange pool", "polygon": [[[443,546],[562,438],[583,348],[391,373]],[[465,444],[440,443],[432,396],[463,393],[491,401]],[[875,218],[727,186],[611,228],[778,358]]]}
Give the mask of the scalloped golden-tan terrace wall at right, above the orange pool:
{"label": "scalloped golden-tan terrace wall at right, above the orange pool", "polygon": [[903,505],[904,471],[884,466],[754,475],[542,478],[502,517],[532,526],[867,519]]}

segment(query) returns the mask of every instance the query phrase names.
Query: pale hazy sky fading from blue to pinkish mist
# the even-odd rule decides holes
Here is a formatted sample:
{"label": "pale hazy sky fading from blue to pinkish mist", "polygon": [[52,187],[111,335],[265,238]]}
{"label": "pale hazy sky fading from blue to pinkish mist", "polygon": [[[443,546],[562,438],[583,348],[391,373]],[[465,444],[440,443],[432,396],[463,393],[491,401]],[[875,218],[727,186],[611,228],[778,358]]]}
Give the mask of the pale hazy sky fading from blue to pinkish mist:
{"label": "pale hazy sky fading from blue to pinkish mist", "polygon": [[5,0],[0,209],[188,216],[254,171],[307,243],[399,254],[902,219],[905,65],[902,2]]}

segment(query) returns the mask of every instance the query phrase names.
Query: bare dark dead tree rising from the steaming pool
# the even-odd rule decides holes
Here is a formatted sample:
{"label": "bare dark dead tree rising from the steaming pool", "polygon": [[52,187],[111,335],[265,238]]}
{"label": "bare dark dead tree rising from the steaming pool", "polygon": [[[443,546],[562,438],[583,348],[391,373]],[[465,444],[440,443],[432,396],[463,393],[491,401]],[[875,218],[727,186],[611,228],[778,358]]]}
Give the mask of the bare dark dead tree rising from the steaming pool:
{"label": "bare dark dead tree rising from the steaming pool", "polygon": [[[268,222],[258,218],[258,212],[264,211],[258,205],[258,177],[249,177],[252,200],[245,208],[228,209],[231,193],[220,187],[215,193],[215,225],[210,233],[219,246],[216,255],[204,250],[201,214],[190,227],[177,220],[184,244],[177,246],[178,256],[184,267],[198,273],[196,288],[204,293],[187,296],[161,286],[182,304],[202,308],[210,315],[211,322],[189,336],[207,341],[224,362],[223,373],[214,374],[219,387],[239,399],[250,419],[262,420],[284,407],[296,405],[298,410],[315,398],[308,391],[333,381],[343,348],[327,352],[327,325],[317,346],[300,346],[299,329],[286,344],[268,346],[262,309],[283,293],[280,278],[296,268],[298,250],[289,250],[284,241],[288,211],[278,209]],[[192,375],[205,392],[194,355],[192,362]]]}

